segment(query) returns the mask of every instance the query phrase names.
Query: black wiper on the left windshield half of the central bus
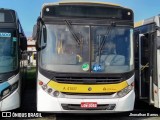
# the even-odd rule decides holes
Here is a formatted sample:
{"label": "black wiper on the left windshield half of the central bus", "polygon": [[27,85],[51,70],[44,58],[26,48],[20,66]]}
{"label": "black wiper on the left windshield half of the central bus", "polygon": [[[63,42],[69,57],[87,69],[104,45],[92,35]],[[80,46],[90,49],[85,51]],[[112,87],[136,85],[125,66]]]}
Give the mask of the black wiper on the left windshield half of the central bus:
{"label": "black wiper on the left windshield half of the central bus", "polygon": [[77,42],[77,44],[80,46],[81,41],[79,39],[79,37],[77,36],[77,34],[74,32],[73,27],[71,25],[71,23],[68,20],[65,20],[65,24],[68,27],[69,31],[71,32],[74,40]]}

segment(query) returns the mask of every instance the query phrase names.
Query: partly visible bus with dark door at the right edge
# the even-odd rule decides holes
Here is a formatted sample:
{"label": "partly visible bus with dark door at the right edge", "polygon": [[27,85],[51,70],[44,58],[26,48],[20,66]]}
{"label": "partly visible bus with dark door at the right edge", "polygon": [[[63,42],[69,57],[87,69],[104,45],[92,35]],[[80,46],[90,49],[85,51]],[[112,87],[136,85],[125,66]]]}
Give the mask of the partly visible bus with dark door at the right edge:
{"label": "partly visible bus with dark door at the right edge", "polygon": [[136,88],[140,100],[160,108],[160,16],[135,23]]}

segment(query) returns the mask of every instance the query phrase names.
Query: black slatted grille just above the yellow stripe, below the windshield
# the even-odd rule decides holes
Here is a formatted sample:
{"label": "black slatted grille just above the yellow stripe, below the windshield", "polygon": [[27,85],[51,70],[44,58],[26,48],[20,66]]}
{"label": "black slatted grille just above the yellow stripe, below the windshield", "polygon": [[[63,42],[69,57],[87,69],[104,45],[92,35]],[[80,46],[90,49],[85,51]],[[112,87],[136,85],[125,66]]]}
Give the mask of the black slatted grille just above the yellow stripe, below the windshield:
{"label": "black slatted grille just above the yellow stripe, below the windshield", "polygon": [[55,77],[58,83],[71,84],[116,84],[122,82],[121,77]]}

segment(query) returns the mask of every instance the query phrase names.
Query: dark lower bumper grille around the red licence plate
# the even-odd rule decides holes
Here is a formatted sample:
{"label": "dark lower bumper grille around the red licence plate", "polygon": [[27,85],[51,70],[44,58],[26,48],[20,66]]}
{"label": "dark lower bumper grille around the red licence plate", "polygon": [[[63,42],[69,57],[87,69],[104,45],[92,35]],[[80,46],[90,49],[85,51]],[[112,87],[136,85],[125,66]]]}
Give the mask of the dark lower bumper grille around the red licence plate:
{"label": "dark lower bumper grille around the red licence plate", "polygon": [[64,110],[114,110],[116,104],[101,104],[96,108],[81,108],[80,104],[61,104]]}

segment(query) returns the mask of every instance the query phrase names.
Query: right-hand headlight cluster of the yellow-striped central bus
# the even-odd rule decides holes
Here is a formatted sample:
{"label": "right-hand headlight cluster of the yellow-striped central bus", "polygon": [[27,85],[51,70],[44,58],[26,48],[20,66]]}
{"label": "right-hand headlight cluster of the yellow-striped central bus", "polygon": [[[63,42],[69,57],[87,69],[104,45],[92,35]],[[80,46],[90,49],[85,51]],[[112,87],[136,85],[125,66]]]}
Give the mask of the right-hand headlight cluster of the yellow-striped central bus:
{"label": "right-hand headlight cluster of the yellow-striped central bus", "polygon": [[127,86],[126,88],[124,88],[123,90],[119,91],[117,93],[118,97],[124,97],[125,95],[127,95],[131,90],[134,89],[134,83],[132,83],[131,85]]}

